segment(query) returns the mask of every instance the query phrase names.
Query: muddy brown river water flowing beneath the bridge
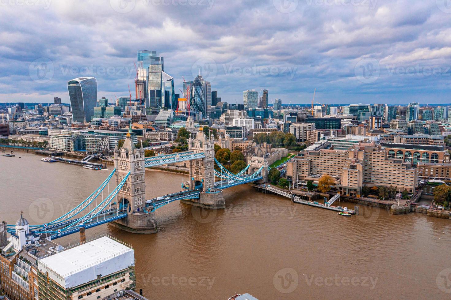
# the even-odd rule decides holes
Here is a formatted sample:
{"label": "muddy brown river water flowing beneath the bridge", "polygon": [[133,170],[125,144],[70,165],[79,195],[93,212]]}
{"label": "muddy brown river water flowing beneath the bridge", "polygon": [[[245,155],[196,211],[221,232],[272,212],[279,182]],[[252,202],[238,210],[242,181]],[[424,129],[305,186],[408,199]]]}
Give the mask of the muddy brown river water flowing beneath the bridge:
{"label": "muddy brown river water flowing beneath the bridge", "polygon": [[[15,154],[0,156],[0,218],[9,224],[20,211],[31,225],[61,216],[112,171]],[[147,198],[180,191],[187,179],[146,171]],[[149,299],[228,299],[246,292],[260,300],[450,298],[450,220],[364,205],[359,216],[344,218],[248,185],[227,189],[224,198],[222,210],[178,201],[163,206],[153,235],[102,225],[87,229],[87,238],[108,234],[132,245],[137,291]],[[77,243],[78,234],[55,242]]]}

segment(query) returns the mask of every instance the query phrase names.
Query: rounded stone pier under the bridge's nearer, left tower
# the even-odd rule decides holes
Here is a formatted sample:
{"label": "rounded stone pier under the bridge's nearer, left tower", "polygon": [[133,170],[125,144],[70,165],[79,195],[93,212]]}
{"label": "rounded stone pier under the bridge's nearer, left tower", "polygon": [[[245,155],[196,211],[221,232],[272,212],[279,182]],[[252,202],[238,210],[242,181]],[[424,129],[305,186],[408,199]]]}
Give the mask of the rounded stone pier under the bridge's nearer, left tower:
{"label": "rounded stone pier under the bridge's nearer, left tower", "polygon": [[128,213],[127,218],[115,220],[109,224],[131,233],[150,234],[158,231],[154,213]]}

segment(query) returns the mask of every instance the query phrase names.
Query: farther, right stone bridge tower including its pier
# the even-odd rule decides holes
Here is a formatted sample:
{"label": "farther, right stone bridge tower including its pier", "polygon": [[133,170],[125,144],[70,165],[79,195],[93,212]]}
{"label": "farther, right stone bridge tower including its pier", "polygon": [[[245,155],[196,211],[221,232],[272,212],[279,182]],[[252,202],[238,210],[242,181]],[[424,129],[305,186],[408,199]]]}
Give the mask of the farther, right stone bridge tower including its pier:
{"label": "farther, right stone bridge tower including its pier", "polygon": [[195,139],[189,138],[190,151],[205,153],[203,159],[193,159],[189,162],[189,189],[200,189],[199,199],[182,200],[182,202],[209,209],[223,209],[226,201],[222,197],[222,190],[214,187],[215,173],[215,145],[212,139],[207,139],[202,128]]}

